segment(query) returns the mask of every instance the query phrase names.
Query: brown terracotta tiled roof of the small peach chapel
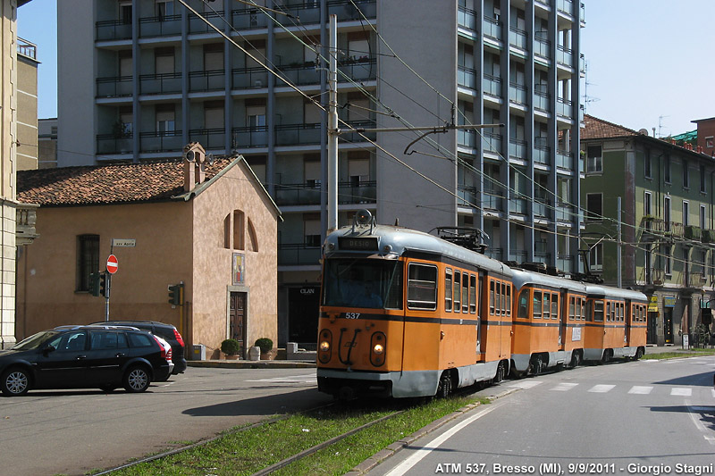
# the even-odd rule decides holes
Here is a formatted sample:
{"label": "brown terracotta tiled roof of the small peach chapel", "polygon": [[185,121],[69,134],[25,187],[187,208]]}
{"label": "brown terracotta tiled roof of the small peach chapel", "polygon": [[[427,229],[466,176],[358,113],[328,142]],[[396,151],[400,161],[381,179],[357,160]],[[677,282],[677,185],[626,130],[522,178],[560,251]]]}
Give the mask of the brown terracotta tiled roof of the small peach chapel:
{"label": "brown terracotta tiled roof of the small peach chapel", "polygon": [[[206,165],[206,180],[231,158]],[[103,205],[171,200],[184,193],[183,162],[156,162],[60,167],[17,172],[17,199],[39,205]]]}

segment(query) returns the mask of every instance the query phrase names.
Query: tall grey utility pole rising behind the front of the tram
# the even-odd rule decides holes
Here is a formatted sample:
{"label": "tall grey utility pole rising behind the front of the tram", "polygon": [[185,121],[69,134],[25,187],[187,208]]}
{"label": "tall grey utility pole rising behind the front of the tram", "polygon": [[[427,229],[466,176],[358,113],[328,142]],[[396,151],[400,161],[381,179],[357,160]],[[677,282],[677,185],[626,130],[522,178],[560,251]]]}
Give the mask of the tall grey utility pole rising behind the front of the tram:
{"label": "tall grey utility pole rising behind the front of the tram", "polygon": [[328,48],[328,233],[338,230],[338,16],[330,15]]}

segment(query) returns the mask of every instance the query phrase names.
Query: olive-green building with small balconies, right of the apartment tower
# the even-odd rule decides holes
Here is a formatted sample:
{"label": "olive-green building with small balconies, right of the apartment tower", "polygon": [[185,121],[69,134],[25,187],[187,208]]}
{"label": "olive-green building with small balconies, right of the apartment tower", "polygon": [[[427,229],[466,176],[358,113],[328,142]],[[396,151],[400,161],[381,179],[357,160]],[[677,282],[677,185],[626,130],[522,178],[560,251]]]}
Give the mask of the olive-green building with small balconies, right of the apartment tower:
{"label": "olive-green building with small balconies, right of the apartment tower", "polygon": [[590,271],[610,285],[620,272],[624,288],[650,296],[648,343],[679,345],[715,298],[715,163],[692,146],[588,115],[581,143]]}

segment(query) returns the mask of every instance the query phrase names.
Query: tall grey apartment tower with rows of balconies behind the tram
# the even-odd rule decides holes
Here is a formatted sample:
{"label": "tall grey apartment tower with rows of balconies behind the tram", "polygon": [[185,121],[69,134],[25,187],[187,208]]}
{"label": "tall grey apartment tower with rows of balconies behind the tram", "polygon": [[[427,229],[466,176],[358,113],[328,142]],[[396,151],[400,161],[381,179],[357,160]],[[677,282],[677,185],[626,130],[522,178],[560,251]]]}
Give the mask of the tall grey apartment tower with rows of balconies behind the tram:
{"label": "tall grey apartment tower with rows of balconies behind the tram", "polygon": [[[475,227],[496,258],[578,271],[583,4],[188,4],[196,13],[171,0],[58,2],[57,162],[179,156],[189,141],[243,154],[284,218],[281,344],[315,340],[327,131],[312,99],[327,104],[329,14],[338,21],[338,103],[348,129],[339,145],[340,224],[365,208],[377,221],[419,230]],[[504,127],[449,129],[411,146],[421,133],[349,131],[451,123]]]}

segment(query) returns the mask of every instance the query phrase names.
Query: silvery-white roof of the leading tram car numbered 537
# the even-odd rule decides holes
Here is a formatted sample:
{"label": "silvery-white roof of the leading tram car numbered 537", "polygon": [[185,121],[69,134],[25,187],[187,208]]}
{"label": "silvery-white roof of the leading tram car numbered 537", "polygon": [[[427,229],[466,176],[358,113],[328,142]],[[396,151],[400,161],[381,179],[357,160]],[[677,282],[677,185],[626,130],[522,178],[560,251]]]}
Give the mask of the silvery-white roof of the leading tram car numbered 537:
{"label": "silvery-white roof of the leading tram car numbered 537", "polygon": [[[341,249],[338,238],[377,238],[378,251],[356,251],[355,249]],[[499,272],[505,276],[511,276],[511,268],[498,260],[492,259],[481,253],[477,253],[463,246],[455,245],[442,238],[435,237],[423,231],[410,230],[407,228],[395,227],[391,225],[369,225],[363,227],[343,227],[333,231],[325,238],[324,252],[326,256],[364,254],[375,258],[396,258],[404,255],[405,252],[425,252],[442,255],[459,262],[472,264],[486,271]]]}

